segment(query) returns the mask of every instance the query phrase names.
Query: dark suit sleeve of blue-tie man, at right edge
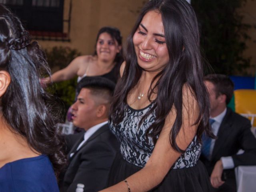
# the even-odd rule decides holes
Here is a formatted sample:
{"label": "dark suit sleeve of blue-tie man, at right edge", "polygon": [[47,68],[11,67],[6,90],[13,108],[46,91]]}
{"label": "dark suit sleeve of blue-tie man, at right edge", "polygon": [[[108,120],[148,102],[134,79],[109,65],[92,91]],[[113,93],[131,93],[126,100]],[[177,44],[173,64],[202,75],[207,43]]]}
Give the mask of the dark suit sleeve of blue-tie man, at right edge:
{"label": "dark suit sleeve of blue-tie man, at right edge", "polygon": [[246,119],[243,123],[238,142],[244,153],[232,156],[235,167],[240,165],[256,165],[256,138],[250,130],[250,121]]}

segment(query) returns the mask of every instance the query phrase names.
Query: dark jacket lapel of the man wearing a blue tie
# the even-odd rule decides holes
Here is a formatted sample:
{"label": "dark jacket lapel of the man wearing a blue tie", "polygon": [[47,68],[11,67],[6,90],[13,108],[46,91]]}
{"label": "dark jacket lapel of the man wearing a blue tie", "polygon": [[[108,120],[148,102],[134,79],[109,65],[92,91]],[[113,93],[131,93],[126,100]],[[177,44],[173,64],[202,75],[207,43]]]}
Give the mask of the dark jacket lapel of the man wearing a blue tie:
{"label": "dark jacket lapel of the man wearing a blue tie", "polygon": [[232,114],[232,111],[230,108],[227,108],[226,115],[224,116],[220,128],[218,130],[218,138],[215,141],[214,148],[212,151],[212,159],[214,159],[216,156],[218,156],[218,153],[221,151],[221,148],[223,146],[223,143],[226,141],[227,136],[230,135],[230,127],[232,125],[232,121],[229,120],[230,116]]}

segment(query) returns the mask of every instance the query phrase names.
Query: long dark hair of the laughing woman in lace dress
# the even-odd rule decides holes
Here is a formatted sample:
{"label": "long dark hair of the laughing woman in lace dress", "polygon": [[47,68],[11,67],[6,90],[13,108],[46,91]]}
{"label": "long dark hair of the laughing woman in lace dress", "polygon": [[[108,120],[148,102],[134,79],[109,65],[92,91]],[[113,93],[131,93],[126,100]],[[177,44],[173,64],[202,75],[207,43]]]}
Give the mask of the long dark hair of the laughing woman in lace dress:
{"label": "long dark hair of the laughing woman in lace dress", "polygon": [[[156,10],[162,15],[166,46],[170,61],[151,82],[148,99],[157,90],[157,98],[140,123],[154,110],[156,118],[146,131],[147,136],[153,138],[154,143],[159,136],[165,118],[172,106],[176,108],[177,116],[170,131],[170,144],[178,152],[184,152],[176,143],[176,137],[182,127],[182,87],[186,83],[191,89],[199,105],[199,116],[194,124],[199,124],[196,135],[201,142],[204,130],[213,136],[209,128],[210,102],[203,83],[203,67],[200,54],[200,40],[198,23],[193,8],[185,0],[151,0],[143,8],[135,23],[127,42],[126,66],[120,81],[116,86],[112,103],[110,120],[118,124],[124,118],[127,95],[136,86],[142,74],[134,50],[133,36],[144,15]],[[153,86],[153,82],[156,82]]]}

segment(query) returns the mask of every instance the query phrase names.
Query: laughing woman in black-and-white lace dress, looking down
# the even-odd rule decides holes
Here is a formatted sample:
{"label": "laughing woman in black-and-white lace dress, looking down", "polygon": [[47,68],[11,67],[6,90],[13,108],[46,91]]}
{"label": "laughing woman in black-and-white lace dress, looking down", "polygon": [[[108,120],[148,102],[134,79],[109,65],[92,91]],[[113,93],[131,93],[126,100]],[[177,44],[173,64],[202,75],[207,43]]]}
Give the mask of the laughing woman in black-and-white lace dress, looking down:
{"label": "laughing woman in black-and-white lace dress, looking down", "polygon": [[[128,38],[110,124],[120,142],[102,192],[208,192],[209,129],[198,23],[185,0],[151,0]],[[114,186],[112,186],[114,185]]]}

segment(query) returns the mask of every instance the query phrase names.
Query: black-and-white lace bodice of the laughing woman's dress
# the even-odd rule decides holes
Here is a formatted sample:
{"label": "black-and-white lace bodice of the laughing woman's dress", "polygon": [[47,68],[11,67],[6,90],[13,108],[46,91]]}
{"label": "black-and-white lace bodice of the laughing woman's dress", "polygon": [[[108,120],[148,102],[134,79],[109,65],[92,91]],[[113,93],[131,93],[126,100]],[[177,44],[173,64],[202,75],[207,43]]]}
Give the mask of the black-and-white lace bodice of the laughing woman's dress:
{"label": "black-and-white lace bodice of the laughing woman's dress", "polygon": [[[144,167],[154,150],[152,138],[146,137],[146,130],[155,120],[152,112],[139,127],[140,119],[152,108],[152,104],[141,110],[134,110],[126,105],[124,119],[117,125],[110,122],[110,129],[120,143],[120,152],[127,162]],[[195,166],[200,156],[201,145],[196,137],[192,140],[185,153],[173,164],[172,169]]]}

